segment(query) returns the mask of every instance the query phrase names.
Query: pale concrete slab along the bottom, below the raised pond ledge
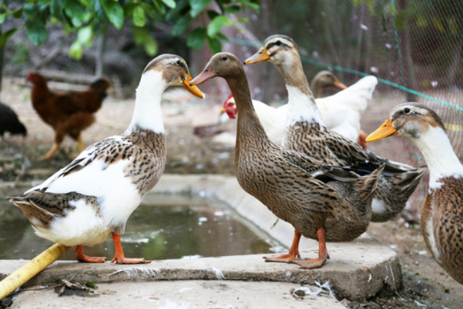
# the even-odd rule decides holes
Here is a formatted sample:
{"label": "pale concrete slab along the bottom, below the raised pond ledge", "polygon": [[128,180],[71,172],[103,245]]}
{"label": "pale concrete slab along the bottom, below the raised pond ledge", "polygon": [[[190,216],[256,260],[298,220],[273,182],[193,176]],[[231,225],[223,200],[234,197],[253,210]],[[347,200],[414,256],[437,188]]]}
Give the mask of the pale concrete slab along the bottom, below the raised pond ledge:
{"label": "pale concrete slab along the bottom, below the raised pond ledge", "polygon": [[[158,281],[100,284],[99,297],[62,296],[52,290],[20,293],[11,309],[342,309],[328,296],[293,296],[298,284],[244,281]],[[315,290],[316,288],[312,288]]]}

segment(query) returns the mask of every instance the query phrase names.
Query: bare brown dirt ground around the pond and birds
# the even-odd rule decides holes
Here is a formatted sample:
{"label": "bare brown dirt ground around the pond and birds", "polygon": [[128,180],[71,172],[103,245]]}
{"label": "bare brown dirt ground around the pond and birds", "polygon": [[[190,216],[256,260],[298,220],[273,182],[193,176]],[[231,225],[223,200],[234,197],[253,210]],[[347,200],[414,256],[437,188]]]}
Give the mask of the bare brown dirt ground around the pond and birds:
{"label": "bare brown dirt ground around the pond and birds", "polygon": [[[52,161],[38,161],[52,146],[53,131],[32,109],[29,88],[7,79],[0,100],[16,110],[28,128],[25,139],[6,136],[6,141],[0,141],[0,182],[43,180],[77,156],[76,142],[67,138]],[[219,110],[223,100],[208,98],[200,101],[183,89],[174,89],[164,95],[166,173],[234,173],[236,124],[232,121],[220,123]],[[110,94],[97,112],[95,124],[83,132],[84,144],[88,146],[124,131],[131,120],[132,110],[133,99],[119,99]],[[367,112],[387,117],[388,110],[387,105],[376,105],[368,107]],[[371,131],[378,125],[366,122],[363,127]],[[220,132],[222,134],[217,135]],[[377,151],[378,148],[372,146],[371,149]],[[363,303],[344,301],[344,305],[349,308],[463,308],[462,286],[440,269],[421,237],[418,214],[425,190],[423,184],[412,199],[407,214],[395,221],[372,223],[368,229],[371,235],[399,254],[404,274],[403,288],[394,295],[378,295]]]}

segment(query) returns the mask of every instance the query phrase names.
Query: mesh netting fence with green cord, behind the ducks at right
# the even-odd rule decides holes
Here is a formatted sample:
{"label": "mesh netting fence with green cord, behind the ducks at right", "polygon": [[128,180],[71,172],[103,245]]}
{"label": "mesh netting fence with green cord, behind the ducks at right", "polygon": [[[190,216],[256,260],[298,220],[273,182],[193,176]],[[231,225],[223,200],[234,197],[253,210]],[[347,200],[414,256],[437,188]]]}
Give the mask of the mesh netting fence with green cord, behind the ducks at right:
{"label": "mesh netting fence with green cord, behind the ducks at right", "polygon": [[[361,76],[375,75],[378,87],[362,119],[366,132],[382,124],[395,105],[417,101],[443,118],[461,159],[463,1],[306,2],[291,2],[293,13],[289,18],[282,16],[283,4],[275,4],[272,30],[293,37],[305,51],[302,59],[308,78],[326,68],[348,85]],[[289,3],[284,5],[288,7]],[[426,164],[419,151],[401,137],[369,147],[396,161],[414,166]],[[426,196],[426,185],[422,183],[414,194],[415,211]]]}

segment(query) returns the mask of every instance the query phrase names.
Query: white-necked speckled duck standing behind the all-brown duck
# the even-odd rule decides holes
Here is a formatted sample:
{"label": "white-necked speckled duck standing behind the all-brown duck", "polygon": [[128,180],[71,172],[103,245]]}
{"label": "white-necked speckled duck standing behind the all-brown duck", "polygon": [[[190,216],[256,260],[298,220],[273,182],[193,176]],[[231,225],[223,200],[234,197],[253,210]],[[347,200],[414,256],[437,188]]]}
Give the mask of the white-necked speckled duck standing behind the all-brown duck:
{"label": "white-necked speckled duck standing behind the all-brown duck", "polygon": [[299,48],[291,37],[267,37],[258,52],[244,64],[263,61],[277,66],[288,91],[284,146],[332,165],[374,170],[385,164],[373,198],[371,221],[394,219],[404,209],[426,167],[414,168],[387,160],[328,129],[303,73]]}

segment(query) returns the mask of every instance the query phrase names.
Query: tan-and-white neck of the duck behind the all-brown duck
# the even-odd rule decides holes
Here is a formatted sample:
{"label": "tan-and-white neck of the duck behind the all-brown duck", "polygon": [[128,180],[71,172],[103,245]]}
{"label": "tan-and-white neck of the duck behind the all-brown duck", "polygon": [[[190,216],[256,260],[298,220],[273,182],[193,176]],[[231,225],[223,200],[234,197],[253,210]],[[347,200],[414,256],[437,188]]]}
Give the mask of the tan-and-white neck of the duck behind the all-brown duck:
{"label": "tan-and-white neck of the duck behind the all-brown duck", "polygon": [[291,127],[296,122],[316,122],[324,126],[306,75],[303,73],[301,59],[294,57],[293,61],[277,64],[277,67],[288,91],[286,127]]}

